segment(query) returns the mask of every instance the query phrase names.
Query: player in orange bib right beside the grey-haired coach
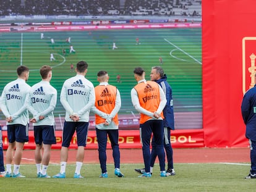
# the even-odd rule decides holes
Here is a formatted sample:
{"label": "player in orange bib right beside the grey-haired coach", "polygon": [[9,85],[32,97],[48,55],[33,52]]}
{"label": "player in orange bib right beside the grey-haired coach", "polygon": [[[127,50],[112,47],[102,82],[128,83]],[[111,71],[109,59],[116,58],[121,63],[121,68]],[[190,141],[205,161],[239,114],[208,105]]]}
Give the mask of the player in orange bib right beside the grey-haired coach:
{"label": "player in orange bib right beside the grey-haired coach", "polygon": [[145,172],[139,177],[151,177],[150,173],[150,138],[155,138],[155,149],[160,162],[160,176],[167,177],[163,147],[163,109],[166,97],[160,85],[145,80],[145,71],[141,67],[134,69],[138,84],[132,88],[130,96],[135,109],[140,112],[140,138],[145,165]]}

